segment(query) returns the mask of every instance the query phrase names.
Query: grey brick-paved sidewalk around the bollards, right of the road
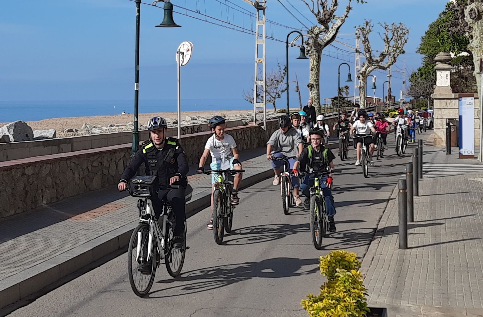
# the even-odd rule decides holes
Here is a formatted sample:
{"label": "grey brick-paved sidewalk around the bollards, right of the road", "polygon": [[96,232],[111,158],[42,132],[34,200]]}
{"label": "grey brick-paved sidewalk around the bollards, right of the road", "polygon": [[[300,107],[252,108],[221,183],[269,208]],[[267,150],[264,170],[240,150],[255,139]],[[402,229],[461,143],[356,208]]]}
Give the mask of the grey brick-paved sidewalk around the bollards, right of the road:
{"label": "grey brick-paved sidewalk around the bollards, right of the road", "polygon": [[408,249],[398,249],[398,188],[364,258],[372,307],[388,317],[483,316],[483,173],[420,180]]}

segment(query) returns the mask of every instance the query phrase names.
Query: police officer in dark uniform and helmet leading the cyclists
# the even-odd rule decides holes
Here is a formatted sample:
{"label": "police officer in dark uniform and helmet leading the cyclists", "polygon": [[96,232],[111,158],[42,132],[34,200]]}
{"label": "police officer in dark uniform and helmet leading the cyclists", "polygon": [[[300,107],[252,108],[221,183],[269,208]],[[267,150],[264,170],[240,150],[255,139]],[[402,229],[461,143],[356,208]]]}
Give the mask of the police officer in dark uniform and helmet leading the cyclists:
{"label": "police officer in dark uniform and helmet leading the cyclists", "polygon": [[[188,185],[186,174],[189,171],[185,151],[176,139],[166,137],[168,124],[164,118],[155,116],[148,121],[147,128],[149,140],[144,142],[141,149],[136,152],[117,187],[119,190],[126,189],[128,181],[136,175],[139,167],[144,163],[146,175],[156,175],[159,181],[160,190],[157,196],[152,197],[156,219],[163,211],[162,201],[169,202],[176,220],[173,246],[180,248],[185,240],[185,189]],[[170,185],[180,186],[169,188]],[[150,270],[149,268],[148,272]]]}

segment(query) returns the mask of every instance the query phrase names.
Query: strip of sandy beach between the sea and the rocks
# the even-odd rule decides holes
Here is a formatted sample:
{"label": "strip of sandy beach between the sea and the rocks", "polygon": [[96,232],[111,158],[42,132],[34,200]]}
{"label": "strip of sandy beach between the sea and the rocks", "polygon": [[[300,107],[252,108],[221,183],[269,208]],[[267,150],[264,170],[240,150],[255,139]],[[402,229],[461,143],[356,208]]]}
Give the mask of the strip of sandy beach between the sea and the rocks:
{"label": "strip of sandy beach between the sea and the rocks", "polygon": [[[181,120],[185,120],[186,116],[213,116],[213,115],[246,115],[250,110],[202,110],[202,111],[184,111],[181,112]],[[267,112],[272,112],[273,110],[268,110]],[[252,110],[253,113],[253,110]],[[139,123],[145,125],[146,122],[153,116],[162,116],[165,118],[176,119],[176,112],[159,112],[159,113],[149,113],[149,114],[139,114]],[[57,132],[72,128],[81,129],[84,123],[88,125],[101,125],[102,127],[107,127],[108,124],[123,124],[127,125],[129,122],[134,120],[133,114],[126,115],[96,115],[96,116],[76,116],[68,118],[51,118],[44,119],[40,121],[27,121],[27,124],[32,127],[33,130],[45,130],[45,129],[55,129]],[[0,127],[7,124],[0,123]]]}

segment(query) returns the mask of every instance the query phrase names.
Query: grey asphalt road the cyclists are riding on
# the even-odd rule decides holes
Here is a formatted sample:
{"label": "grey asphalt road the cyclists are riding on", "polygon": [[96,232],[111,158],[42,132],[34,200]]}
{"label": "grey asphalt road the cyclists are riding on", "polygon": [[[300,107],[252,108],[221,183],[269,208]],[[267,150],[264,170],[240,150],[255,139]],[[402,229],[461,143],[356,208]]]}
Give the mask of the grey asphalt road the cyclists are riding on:
{"label": "grey asphalt road the cyclists are riding on", "polygon": [[[393,141],[393,134],[388,140]],[[391,148],[393,144],[389,143]],[[408,148],[407,153],[411,152]],[[206,230],[209,209],[189,218],[190,249],[183,274],[173,279],[160,266],[147,298],[131,291],[123,254],[10,316],[307,316],[300,301],[308,293],[318,294],[325,279],[317,267],[319,256],[336,249],[361,257],[366,253],[409,161],[409,154],[398,158],[393,149],[386,153],[390,157],[369,168],[369,178],[355,167],[353,149],[348,160],[337,158],[336,168],[343,170],[334,178],[337,232],[324,238],[324,250],[312,245],[307,210],[292,208],[284,216],[280,187],[273,186],[270,179],[241,192],[234,233],[225,236],[226,245],[216,245],[213,232]]]}

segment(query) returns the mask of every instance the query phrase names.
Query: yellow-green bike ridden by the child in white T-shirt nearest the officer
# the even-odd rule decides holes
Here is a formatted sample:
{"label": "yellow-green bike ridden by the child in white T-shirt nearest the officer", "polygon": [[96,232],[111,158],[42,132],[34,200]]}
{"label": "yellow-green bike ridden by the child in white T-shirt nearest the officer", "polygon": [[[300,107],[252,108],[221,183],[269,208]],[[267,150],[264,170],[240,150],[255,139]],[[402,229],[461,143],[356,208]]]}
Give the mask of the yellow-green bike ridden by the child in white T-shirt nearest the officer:
{"label": "yellow-green bike ridden by the child in white T-shirt nearest the officer", "polygon": [[233,210],[236,205],[232,204],[231,195],[233,184],[230,176],[236,173],[243,173],[245,170],[205,170],[203,173],[209,175],[216,173],[217,182],[213,184],[213,236],[217,245],[223,244],[225,231],[231,233],[233,225]]}

